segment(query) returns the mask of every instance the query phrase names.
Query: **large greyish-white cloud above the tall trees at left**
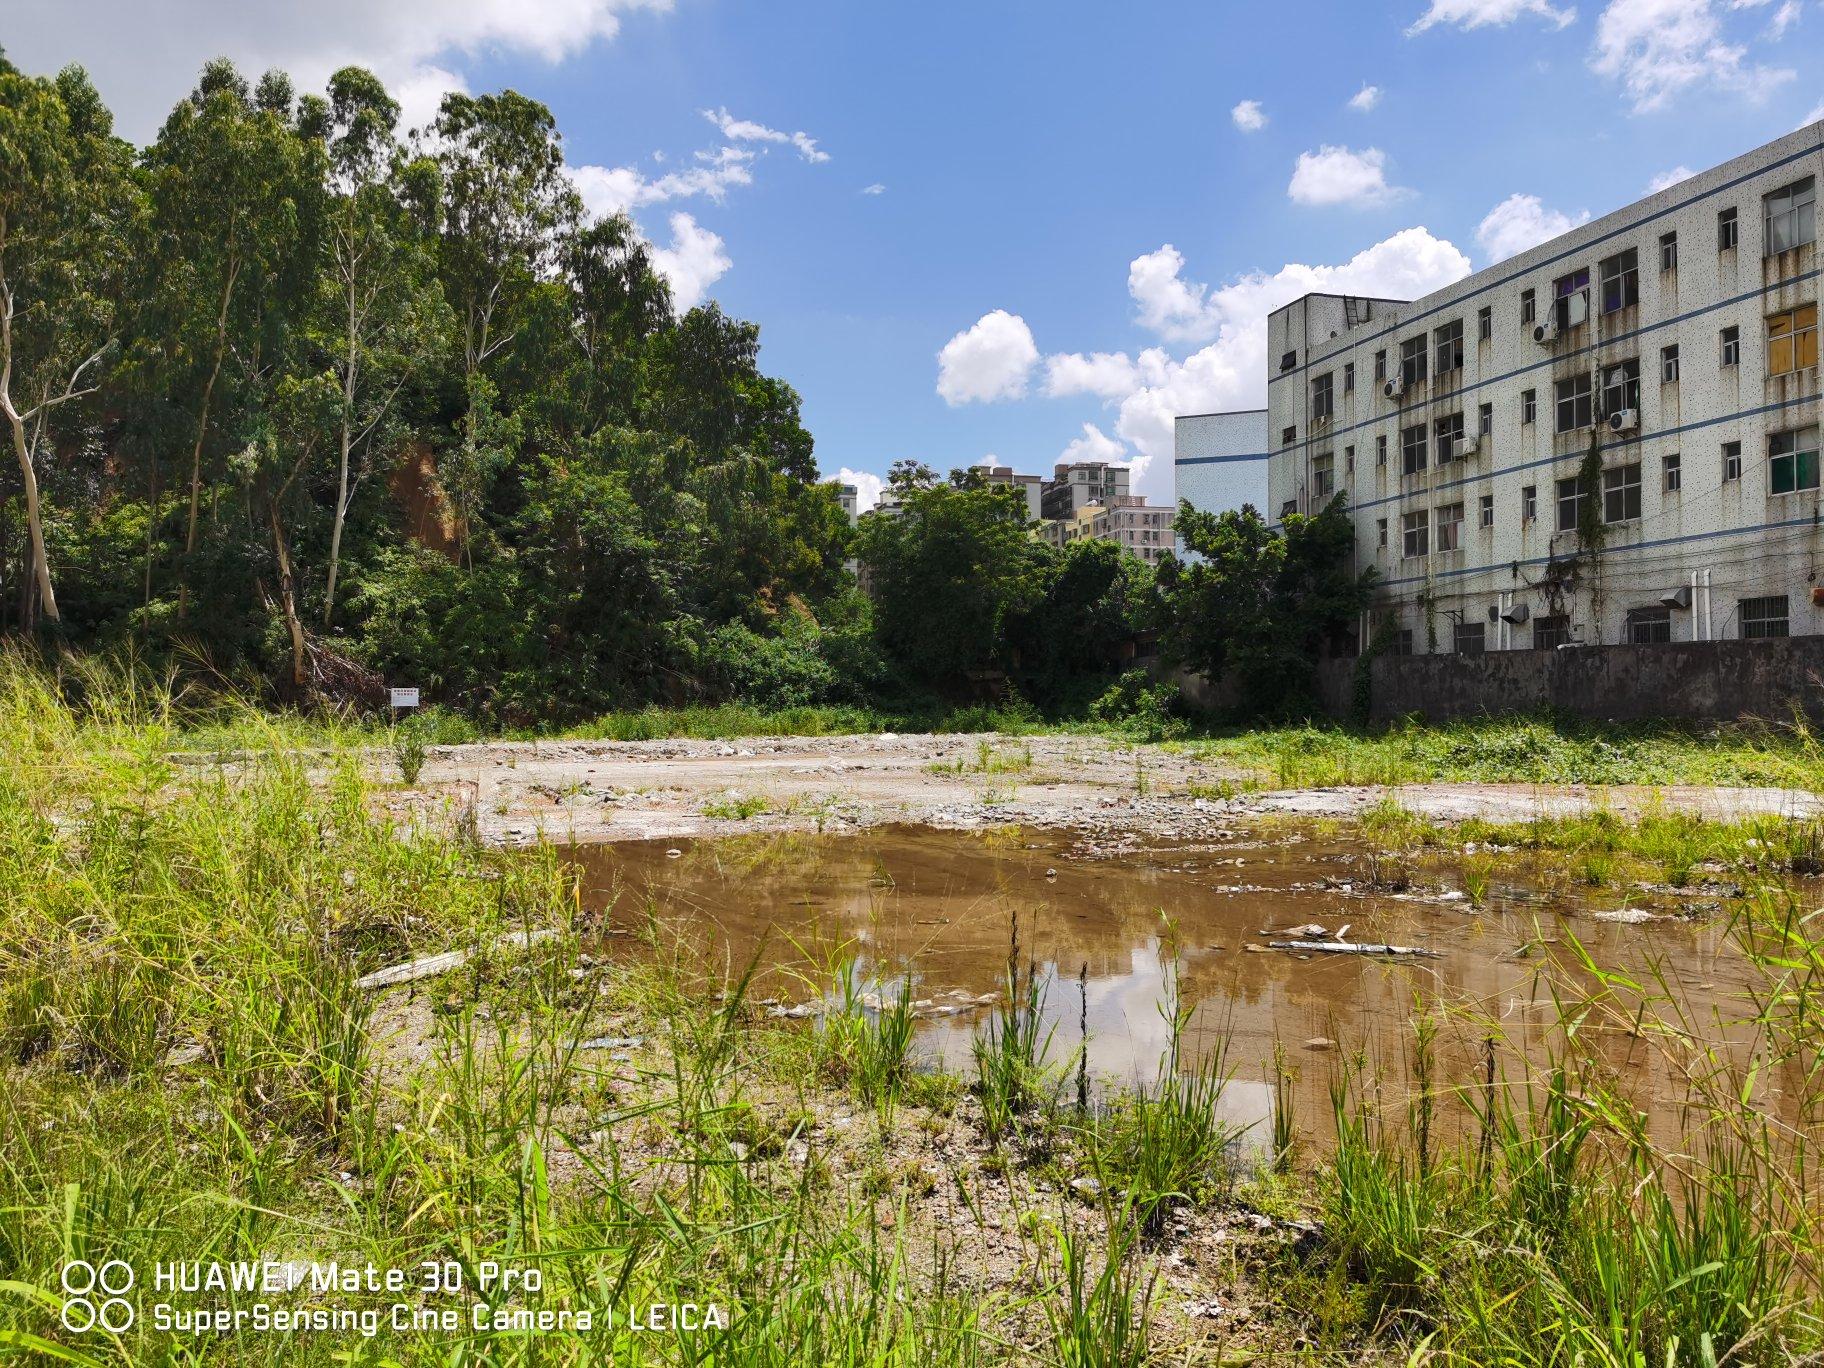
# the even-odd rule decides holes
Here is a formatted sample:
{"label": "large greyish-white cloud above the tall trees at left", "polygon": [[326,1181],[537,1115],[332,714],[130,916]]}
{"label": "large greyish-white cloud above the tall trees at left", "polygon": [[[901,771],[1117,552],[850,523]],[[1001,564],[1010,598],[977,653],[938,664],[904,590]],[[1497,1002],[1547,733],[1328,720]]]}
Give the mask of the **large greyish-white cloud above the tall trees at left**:
{"label": "large greyish-white cloud above the tall trees at left", "polygon": [[[461,86],[461,58],[562,62],[613,38],[624,15],[669,7],[671,0],[11,0],[5,49],[27,71],[82,62],[120,135],[144,142],[212,57],[230,57],[248,75],[285,67],[299,89],[323,89],[336,67],[358,62],[396,98],[441,95]],[[407,102],[418,122],[434,108]]]}

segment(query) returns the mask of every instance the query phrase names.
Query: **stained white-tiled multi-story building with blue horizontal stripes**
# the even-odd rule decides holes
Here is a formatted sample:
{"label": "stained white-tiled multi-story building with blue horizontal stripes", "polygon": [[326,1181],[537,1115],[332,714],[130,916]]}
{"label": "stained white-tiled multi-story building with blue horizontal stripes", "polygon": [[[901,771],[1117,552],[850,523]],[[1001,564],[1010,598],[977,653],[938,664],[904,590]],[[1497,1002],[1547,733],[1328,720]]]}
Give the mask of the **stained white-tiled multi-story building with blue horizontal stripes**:
{"label": "stained white-tiled multi-story building with blue horizontal stripes", "polygon": [[1819,633],[1820,175],[1811,124],[1423,299],[1275,310],[1268,513],[1341,494],[1412,651]]}

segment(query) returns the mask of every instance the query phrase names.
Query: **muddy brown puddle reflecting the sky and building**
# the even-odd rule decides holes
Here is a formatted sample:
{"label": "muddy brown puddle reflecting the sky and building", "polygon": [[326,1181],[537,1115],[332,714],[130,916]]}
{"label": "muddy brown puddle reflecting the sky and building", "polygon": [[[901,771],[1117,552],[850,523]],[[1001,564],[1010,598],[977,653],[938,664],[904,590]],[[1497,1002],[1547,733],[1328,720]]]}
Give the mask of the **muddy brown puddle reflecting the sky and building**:
{"label": "muddy brown puddle reflecting the sky and building", "polygon": [[[1461,896],[1439,897],[1461,886],[1457,857],[1415,870],[1430,892],[1375,892],[1364,848],[1297,835],[1096,857],[1067,835],[877,828],[578,846],[571,855],[611,923],[644,925],[651,912],[711,974],[757,958],[757,998],[828,996],[834,967],[850,958],[857,978],[888,998],[910,976],[914,998],[930,1003],[921,1049],[950,1067],[967,1069],[970,1040],[994,1010],[972,1000],[1001,987],[1014,921],[1021,961],[1031,956],[1045,985],[1052,1052],[1076,1049],[1087,1012],[1089,1065],[1102,1080],[1156,1076],[1176,979],[1193,1009],[1187,1054],[1224,1051],[1231,1111],[1264,1122],[1280,1049],[1295,1074],[1299,1124],[1317,1136],[1328,1131],[1332,1078],[1357,1051],[1392,1089],[1404,1087],[1417,1009],[1445,1020],[1446,1089],[1479,1085],[1488,1034],[1501,1042],[1505,1076],[1541,1063],[1560,1016],[1552,987],[1561,996],[1591,987],[1572,939],[1603,969],[1643,981],[1663,974],[1687,1020],[1715,1038],[1738,1034],[1747,985],[1715,914],[1616,925],[1596,914],[1620,907],[1623,894],[1545,894],[1549,866],[1510,863],[1477,910]],[[1439,958],[1246,948],[1306,939],[1282,932],[1302,923],[1326,934],[1346,925],[1350,941],[1425,947]],[[1656,1120],[1676,1127],[1678,1080],[1651,1034],[1594,1025],[1589,1034]],[[1335,1043],[1311,1047],[1315,1040]]]}

